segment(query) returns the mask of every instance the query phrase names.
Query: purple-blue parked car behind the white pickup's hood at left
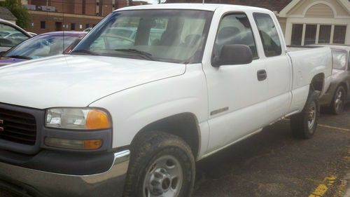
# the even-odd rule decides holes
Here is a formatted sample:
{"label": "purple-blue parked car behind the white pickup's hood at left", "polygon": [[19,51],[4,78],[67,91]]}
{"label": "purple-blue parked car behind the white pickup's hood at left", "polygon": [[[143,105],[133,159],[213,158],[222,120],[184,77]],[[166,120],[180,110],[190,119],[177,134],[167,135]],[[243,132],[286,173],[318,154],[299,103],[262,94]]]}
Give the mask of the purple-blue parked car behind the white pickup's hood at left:
{"label": "purple-blue parked car behind the white pickup's hood at left", "polygon": [[86,32],[50,32],[23,41],[0,56],[0,67],[69,52]]}

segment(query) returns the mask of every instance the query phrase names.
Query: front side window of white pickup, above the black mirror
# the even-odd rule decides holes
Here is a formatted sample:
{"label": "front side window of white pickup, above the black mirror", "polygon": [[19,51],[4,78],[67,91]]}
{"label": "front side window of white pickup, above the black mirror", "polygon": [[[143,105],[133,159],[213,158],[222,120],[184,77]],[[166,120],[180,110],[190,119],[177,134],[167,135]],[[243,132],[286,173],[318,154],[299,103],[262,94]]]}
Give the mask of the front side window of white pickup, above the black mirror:
{"label": "front side window of white pickup, above the black mirror", "polygon": [[251,25],[244,13],[235,13],[223,17],[214,44],[214,57],[220,54],[223,46],[231,44],[249,46],[253,58],[258,58]]}

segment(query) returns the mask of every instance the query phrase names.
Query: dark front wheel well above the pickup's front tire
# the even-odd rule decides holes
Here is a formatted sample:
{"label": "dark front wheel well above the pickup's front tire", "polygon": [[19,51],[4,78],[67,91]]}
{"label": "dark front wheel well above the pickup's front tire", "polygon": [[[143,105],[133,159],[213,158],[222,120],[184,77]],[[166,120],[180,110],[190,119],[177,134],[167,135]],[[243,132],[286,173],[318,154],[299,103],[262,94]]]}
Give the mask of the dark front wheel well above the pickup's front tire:
{"label": "dark front wheel well above the pickup's front tire", "polygon": [[133,142],[144,135],[144,133],[158,130],[181,137],[191,148],[193,156],[197,157],[200,147],[200,133],[198,121],[194,114],[183,113],[162,118],[142,128],[134,137]]}

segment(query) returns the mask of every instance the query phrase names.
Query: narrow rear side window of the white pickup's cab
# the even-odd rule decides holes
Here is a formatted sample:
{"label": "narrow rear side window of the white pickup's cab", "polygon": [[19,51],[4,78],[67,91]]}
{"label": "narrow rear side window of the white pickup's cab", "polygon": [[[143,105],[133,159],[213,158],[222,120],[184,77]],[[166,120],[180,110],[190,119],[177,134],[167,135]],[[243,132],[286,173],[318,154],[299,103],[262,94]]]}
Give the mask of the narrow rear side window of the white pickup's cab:
{"label": "narrow rear side window of the white pickup's cab", "polygon": [[274,21],[268,14],[254,13],[254,19],[259,29],[262,46],[266,57],[281,55],[281,41]]}

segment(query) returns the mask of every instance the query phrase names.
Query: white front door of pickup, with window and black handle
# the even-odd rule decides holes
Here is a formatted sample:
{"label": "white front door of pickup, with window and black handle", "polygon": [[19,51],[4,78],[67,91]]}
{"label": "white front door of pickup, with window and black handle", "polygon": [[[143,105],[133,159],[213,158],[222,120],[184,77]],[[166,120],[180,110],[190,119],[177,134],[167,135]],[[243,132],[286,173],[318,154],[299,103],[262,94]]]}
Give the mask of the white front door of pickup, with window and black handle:
{"label": "white front door of pickup, with window and black handle", "polygon": [[[210,139],[207,153],[235,142],[253,133],[265,124],[267,118],[265,100],[268,99],[268,83],[264,78],[265,62],[258,55],[255,37],[251,29],[253,16],[246,13],[226,13],[221,18],[211,60],[218,57],[225,45],[244,44],[253,52],[250,64],[213,67],[211,60],[204,58],[203,69],[209,93]],[[215,24],[215,21],[212,24]],[[211,33],[213,33],[211,31]],[[208,44],[210,45],[210,44]]]}

